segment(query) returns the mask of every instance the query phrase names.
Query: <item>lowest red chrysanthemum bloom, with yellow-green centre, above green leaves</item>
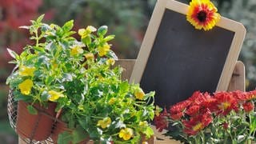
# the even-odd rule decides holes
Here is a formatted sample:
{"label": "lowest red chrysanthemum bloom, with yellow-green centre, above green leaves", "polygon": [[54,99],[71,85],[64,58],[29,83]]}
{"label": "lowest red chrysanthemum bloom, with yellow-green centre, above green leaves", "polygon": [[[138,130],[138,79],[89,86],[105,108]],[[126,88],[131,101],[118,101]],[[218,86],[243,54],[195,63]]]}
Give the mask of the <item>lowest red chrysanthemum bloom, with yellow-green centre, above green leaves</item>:
{"label": "lowest red chrysanthemum bloom, with yellow-green centre, above green leaves", "polygon": [[190,120],[182,121],[185,126],[184,133],[188,135],[196,135],[200,130],[203,130],[206,126],[213,121],[210,110],[206,110],[204,114],[200,114],[196,117],[190,118]]}

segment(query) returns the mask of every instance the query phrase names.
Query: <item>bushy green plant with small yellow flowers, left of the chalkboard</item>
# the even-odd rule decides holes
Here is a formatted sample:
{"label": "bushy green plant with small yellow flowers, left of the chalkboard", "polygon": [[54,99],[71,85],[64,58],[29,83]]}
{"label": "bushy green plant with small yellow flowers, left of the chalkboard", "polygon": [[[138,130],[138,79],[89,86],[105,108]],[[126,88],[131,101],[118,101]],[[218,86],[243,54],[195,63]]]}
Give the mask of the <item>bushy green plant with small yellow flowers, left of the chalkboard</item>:
{"label": "bushy green plant with small yellow flowers, left of the chalkboard", "polygon": [[[143,135],[150,138],[154,92],[145,94],[137,84],[121,80],[122,68],[113,66],[118,58],[109,44],[114,35],[106,35],[107,26],[80,29],[77,40],[72,20],[58,26],[42,23],[42,18],[22,26],[33,34],[33,45],[20,55],[9,50],[18,70],[7,84],[16,100],[30,102],[32,113],[34,103],[57,104],[51,135],[55,143],[137,143]],[[24,66],[30,75],[21,75]]]}

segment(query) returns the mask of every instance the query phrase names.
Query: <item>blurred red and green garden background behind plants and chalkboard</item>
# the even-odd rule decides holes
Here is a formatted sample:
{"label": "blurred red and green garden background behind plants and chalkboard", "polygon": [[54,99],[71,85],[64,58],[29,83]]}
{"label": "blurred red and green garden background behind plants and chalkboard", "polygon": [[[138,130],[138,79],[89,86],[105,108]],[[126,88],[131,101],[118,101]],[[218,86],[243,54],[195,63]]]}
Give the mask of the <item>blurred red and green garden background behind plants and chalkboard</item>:
{"label": "blurred red and green garden background behind plants and chalkboard", "polygon": [[[179,0],[190,2],[190,0]],[[26,30],[18,26],[30,25],[30,19],[46,14],[45,22],[63,25],[74,19],[74,29],[109,26],[115,34],[113,49],[118,58],[137,58],[146,27],[156,0],[0,0],[0,143],[18,143],[6,114],[8,86],[6,77],[14,65],[6,48],[20,53],[30,42]],[[246,90],[256,86],[256,1],[212,0],[219,13],[246,26],[246,40],[239,59],[246,65]]]}

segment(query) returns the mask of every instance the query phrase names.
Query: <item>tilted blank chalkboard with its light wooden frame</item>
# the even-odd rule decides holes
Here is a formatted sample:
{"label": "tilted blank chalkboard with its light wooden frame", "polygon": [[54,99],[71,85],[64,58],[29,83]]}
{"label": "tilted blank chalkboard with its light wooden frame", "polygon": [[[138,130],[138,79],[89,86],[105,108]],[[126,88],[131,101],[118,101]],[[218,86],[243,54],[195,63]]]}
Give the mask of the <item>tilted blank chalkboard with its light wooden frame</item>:
{"label": "tilted blank chalkboard with its light wooden frame", "polygon": [[195,90],[226,90],[246,34],[242,24],[223,17],[210,31],[195,30],[186,10],[181,2],[158,0],[130,78],[154,90],[158,106]]}

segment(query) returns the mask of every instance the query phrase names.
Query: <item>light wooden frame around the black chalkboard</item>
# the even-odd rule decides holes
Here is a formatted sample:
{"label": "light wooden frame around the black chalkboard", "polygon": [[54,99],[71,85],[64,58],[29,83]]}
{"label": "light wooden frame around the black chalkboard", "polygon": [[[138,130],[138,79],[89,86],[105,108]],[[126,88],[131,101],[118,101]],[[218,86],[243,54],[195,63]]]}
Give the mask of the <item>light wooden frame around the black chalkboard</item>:
{"label": "light wooden frame around the black chalkboard", "polygon": [[[149,26],[146,30],[137,61],[134,65],[134,70],[131,74],[130,82],[139,83],[141,81],[148,58],[150,56],[150,51],[154,45],[154,40],[158,34],[158,29],[162,22],[162,16],[166,9],[184,14],[184,17],[186,17],[188,5],[174,0],[158,0],[150,19]],[[232,76],[235,63],[237,62],[238,55],[242,47],[242,42],[246,35],[246,29],[241,23],[234,22],[233,20],[224,17],[221,17],[217,26],[234,32],[234,38],[230,45],[230,51],[227,55],[222,74],[219,78],[218,86],[216,88],[216,91],[222,91],[227,90],[229,86],[230,78]]]}

